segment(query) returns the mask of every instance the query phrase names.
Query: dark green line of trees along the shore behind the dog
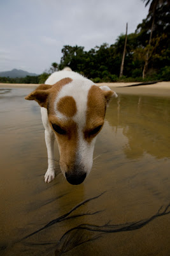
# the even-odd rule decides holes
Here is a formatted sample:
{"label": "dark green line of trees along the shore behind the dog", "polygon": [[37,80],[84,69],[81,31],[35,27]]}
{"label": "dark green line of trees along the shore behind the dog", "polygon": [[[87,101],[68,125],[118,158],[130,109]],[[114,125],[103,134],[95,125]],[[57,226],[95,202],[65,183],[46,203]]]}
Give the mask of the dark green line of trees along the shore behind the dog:
{"label": "dark green line of trees along the shore behind the dog", "polygon": [[[170,80],[169,0],[143,0],[150,9],[134,33],[121,34],[115,44],[106,43],[85,51],[83,46],[64,45],[60,63],[37,77],[7,79],[6,83],[44,83],[56,70],[70,67],[94,83]],[[125,45],[126,41],[126,45]],[[124,51],[125,50],[125,51]],[[123,71],[120,66],[124,52]],[[3,78],[4,79],[4,78]]]}

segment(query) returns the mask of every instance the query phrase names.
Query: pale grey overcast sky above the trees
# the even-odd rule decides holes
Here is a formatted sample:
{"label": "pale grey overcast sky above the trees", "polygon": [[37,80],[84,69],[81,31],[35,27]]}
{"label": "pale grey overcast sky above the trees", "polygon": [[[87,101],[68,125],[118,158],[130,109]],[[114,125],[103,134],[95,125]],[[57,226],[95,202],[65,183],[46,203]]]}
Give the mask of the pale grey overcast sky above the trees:
{"label": "pale grey overcast sky above the trees", "polygon": [[41,74],[60,62],[63,45],[86,51],[135,31],[148,7],[142,0],[0,0],[0,71]]}

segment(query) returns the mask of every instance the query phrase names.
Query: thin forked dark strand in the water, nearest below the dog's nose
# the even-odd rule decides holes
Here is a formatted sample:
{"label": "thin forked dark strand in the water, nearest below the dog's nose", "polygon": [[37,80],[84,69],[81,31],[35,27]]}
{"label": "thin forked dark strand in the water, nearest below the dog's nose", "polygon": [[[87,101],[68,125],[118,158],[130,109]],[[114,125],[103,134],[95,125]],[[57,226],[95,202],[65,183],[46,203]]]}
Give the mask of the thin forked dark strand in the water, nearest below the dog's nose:
{"label": "thin forked dark strand in the water, nearest below the dog's nose", "polygon": [[[67,212],[66,214],[60,216],[59,218],[56,218],[56,219],[54,219],[54,220],[48,222],[44,227],[39,228],[38,230],[32,232],[31,234],[29,234],[29,235],[23,237],[23,238],[21,239],[21,241],[24,240],[24,239],[27,239],[28,237],[31,237],[31,236],[37,234],[37,233],[40,232],[41,230],[44,230],[45,228],[48,228],[48,227],[52,226],[52,225],[55,224],[55,223],[59,223],[60,221],[69,220],[70,218],[73,218],[73,216],[72,216],[72,217],[70,216],[69,218],[66,218],[66,217],[67,217],[69,214],[71,214],[71,212],[73,212],[73,211],[75,211],[76,209],[78,209],[81,205],[84,205],[84,204],[86,204],[87,202],[90,202],[91,200],[94,200],[94,199],[96,199],[96,198],[99,198],[99,196],[103,195],[105,192],[106,192],[106,191],[104,191],[103,193],[101,193],[101,194],[98,195],[98,196],[94,196],[94,197],[92,197],[92,198],[89,198],[89,199],[87,199],[87,200],[84,200],[84,201],[81,202],[80,204],[74,206],[73,209],[71,209],[71,211],[69,211],[69,212]],[[93,215],[93,214],[96,214],[96,213],[98,213],[98,212],[101,212],[101,211],[97,211],[97,212],[93,212],[93,213],[87,213],[87,214],[75,215],[74,218],[80,217],[80,216],[84,216],[84,215]]]}

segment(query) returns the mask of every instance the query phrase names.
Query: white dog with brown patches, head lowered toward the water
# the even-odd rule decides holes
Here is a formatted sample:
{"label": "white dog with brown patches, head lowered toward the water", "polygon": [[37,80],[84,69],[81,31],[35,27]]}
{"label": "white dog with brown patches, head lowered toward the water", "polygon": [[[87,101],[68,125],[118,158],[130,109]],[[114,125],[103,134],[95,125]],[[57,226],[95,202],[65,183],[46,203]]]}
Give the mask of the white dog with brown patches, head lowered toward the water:
{"label": "white dog with brown patches, head lowered toward the water", "polygon": [[93,164],[94,144],[104,124],[106,106],[117,93],[97,86],[71,68],[54,72],[25,97],[41,107],[45,127],[48,169],[45,182],[55,178],[55,138],[59,147],[60,170],[67,182],[81,184]]}

